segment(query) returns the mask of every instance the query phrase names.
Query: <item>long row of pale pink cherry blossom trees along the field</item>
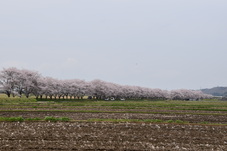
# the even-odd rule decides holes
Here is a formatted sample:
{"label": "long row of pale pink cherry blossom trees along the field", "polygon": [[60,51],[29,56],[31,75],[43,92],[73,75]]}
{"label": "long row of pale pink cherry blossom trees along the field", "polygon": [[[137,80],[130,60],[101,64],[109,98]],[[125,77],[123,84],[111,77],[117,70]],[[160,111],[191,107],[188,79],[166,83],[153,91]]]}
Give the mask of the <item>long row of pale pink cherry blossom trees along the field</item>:
{"label": "long row of pale pink cherry blossom trees along the field", "polygon": [[140,86],[119,85],[93,80],[90,82],[71,79],[59,80],[51,77],[43,77],[36,71],[7,68],[0,71],[0,89],[8,97],[30,95],[36,98],[50,99],[83,99],[84,96],[96,99],[204,99],[210,95],[194,90],[161,90]]}

